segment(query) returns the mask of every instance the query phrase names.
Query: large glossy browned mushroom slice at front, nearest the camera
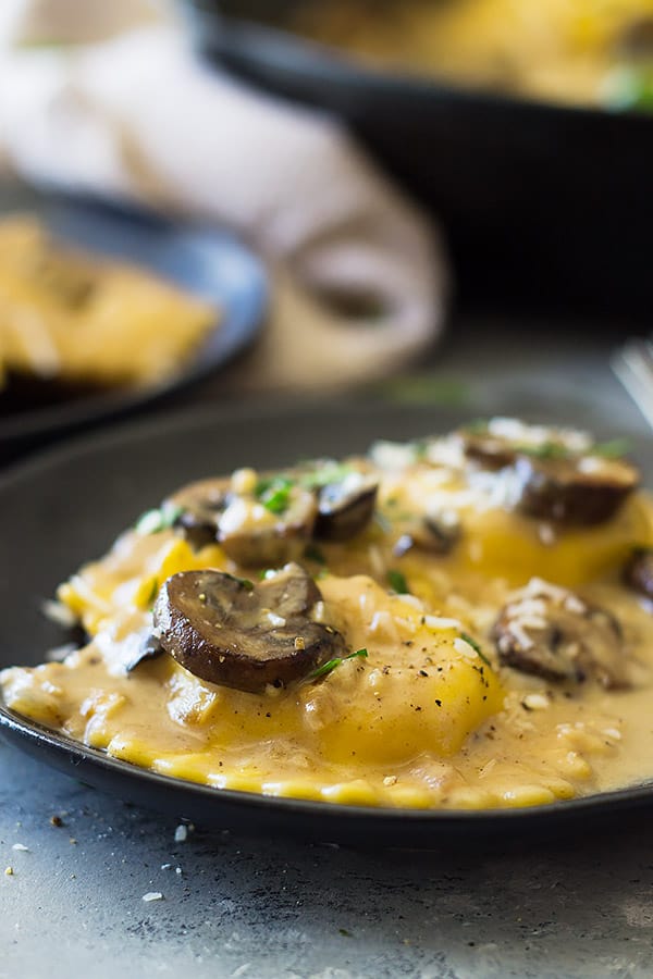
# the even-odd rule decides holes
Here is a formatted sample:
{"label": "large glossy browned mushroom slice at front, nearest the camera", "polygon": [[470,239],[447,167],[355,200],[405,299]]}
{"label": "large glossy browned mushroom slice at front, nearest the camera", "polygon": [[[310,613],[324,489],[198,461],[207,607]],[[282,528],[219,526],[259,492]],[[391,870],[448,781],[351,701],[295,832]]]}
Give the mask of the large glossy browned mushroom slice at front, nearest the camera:
{"label": "large glossy browned mushroom slice at front, nearest the camera", "polygon": [[311,617],[320,600],[316,583],[295,563],[256,585],[220,571],[182,571],[159,592],[156,633],[196,677],[261,693],[345,652],[342,635]]}

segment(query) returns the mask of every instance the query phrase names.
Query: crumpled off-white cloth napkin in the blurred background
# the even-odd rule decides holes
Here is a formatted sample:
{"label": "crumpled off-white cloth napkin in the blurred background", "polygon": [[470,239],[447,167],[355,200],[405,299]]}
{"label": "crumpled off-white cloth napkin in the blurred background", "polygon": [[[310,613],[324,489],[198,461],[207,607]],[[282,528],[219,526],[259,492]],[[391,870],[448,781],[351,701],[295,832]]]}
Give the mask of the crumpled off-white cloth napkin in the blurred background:
{"label": "crumpled off-white cloth napkin in the blurred background", "polygon": [[[440,244],[337,121],[202,65],[163,2],[0,10],[0,171],[226,224],[266,256],[272,310],[244,388],[350,385],[431,345]],[[350,293],[381,312],[348,315]]]}

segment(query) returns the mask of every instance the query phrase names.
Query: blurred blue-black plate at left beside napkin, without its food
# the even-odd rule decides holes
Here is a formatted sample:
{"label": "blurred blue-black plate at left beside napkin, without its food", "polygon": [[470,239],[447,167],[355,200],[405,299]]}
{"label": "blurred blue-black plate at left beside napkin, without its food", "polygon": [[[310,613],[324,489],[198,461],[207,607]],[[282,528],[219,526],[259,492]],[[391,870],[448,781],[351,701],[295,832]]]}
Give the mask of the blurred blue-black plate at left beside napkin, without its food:
{"label": "blurred blue-black plate at left beside napkin, without its food", "polygon": [[0,216],[37,214],[76,247],[151,270],[215,307],[215,327],[177,374],[143,391],[93,393],[0,416],[0,459],[26,446],[150,405],[223,368],[256,337],[267,301],[261,262],[231,235],[98,201],[0,188]]}

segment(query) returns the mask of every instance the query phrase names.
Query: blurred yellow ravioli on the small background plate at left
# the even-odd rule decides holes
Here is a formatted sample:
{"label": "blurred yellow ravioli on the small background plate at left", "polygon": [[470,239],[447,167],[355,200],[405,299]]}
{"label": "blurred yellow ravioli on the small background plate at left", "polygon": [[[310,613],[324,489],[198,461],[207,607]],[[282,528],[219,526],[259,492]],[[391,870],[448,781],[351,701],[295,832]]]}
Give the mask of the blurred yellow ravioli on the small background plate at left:
{"label": "blurred yellow ravioli on the small background plate at left", "polygon": [[0,411],[26,397],[156,385],[215,320],[208,303],[136,265],[73,249],[34,218],[0,222]]}

